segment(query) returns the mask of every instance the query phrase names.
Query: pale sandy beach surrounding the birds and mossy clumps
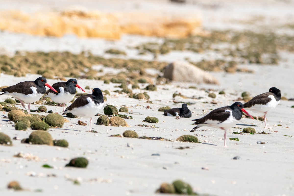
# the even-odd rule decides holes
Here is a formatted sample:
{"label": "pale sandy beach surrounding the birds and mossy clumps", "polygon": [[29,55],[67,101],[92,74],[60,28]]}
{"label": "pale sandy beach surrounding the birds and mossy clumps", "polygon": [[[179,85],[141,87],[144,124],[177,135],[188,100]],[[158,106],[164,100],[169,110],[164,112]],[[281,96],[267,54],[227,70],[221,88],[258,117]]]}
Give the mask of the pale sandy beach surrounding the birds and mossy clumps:
{"label": "pale sandy beach surrounding the birds and mossy clumps", "polygon": [[[98,9],[97,7],[101,5],[101,10],[104,11],[119,9],[125,11],[133,9],[134,5],[138,4],[141,9],[147,10],[157,5],[158,10],[166,8],[169,11],[179,12],[198,11],[199,16],[203,19],[203,27],[206,29],[233,28],[238,30],[262,26],[241,22],[238,24],[235,21],[237,19],[239,21],[248,20],[257,14],[264,17],[263,25],[268,24],[268,21],[271,21],[274,16],[277,16],[277,19],[273,21],[279,20],[279,25],[293,22],[291,11],[294,4],[293,1],[287,1],[288,3],[271,1],[272,4],[268,1],[249,1],[248,4],[245,1],[236,1],[232,4],[226,1],[209,1],[208,3],[199,1],[198,5],[177,5],[167,1],[130,1],[125,4],[118,1],[119,4],[111,6],[114,1],[105,4],[103,1],[98,1],[97,4],[95,2],[86,1],[83,6],[88,9],[91,6],[93,6],[92,9]],[[43,4],[32,1],[24,5],[21,1],[9,3],[0,0],[0,4],[2,3],[3,10],[23,5],[23,11],[39,11],[58,6],[59,9],[63,9],[69,6],[66,1],[60,4],[53,1],[52,5],[48,1],[43,1]],[[78,3],[75,2],[75,4]],[[213,8],[207,8],[208,5]],[[255,6],[252,8],[250,5]],[[214,7],[217,8],[214,9]],[[232,16],[228,16],[228,10],[233,10]],[[275,32],[281,33],[281,31],[277,29]],[[282,33],[293,35],[294,31],[292,29]],[[72,35],[56,38],[1,31],[0,52],[13,56],[16,51],[69,51],[76,54],[81,51],[91,51],[94,55],[111,58],[115,55],[106,54],[105,51],[117,48],[127,53],[126,56],[120,56],[120,58],[151,61],[153,55],[138,56],[136,51],[130,47],[146,42],[162,41],[163,38],[139,35],[123,35],[117,41],[109,41],[103,38],[79,39]],[[197,61],[201,58],[213,59],[216,58],[216,55],[215,53],[171,51],[166,55],[158,55],[157,60],[171,63],[189,58]],[[110,95],[106,96],[107,101],[104,106],[114,105],[117,109],[125,106],[129,113],[120,114],[131,115],[133,119],[125,119],[129,127],[92,124],[93,130],[97,133],[91,133],[87,132],[89,118],[66,118],[64,115],[69,122],[64,123],[62,128],[50,128],[48,132],[54,139],[66,139],[69,142],[68,148],[21,143],[20,140],[28,138],[33,130],[30,128],[26,131],[15,130],[14,123],[6,118],[8,112],[1,112],[0,132],[9,135],[11,139],[15,137],[17,139],[13,140],[12,146],[0,145],[0,195],[159,195],[160,193],[156,193],[156,190],[163,182],[172,183],[178,179],[189,183],[193,191],[200,195],[294,195],[294,108],[291,108],[294,105],[293,101],[281,100],[279,105],[267,114],[267,123],[273,129],[263,128],[263,121],[243,116],[236,125],[237,128],[228,130],[228,148],[223,148],[223,130],[202,127],[195,132],[190,132],[195,126],[192,125],[191,120],[201,118],[213,109],[231,105],[241,98],[241,93],[244,91],[255,96],[267,92],[270,87],[277,87],[281,90],[282,96],[288,99],[294,98],[294,55],[287,51],[279,51],[279,55],[281,60],[278,65],[240,65],[241,68],[250,68],[254,73],[209,71],[219,81],[219,85],[170,82],[156,85],[157,91],[147,91],[144,88],[148,83],[140,83],[139,89],[132,89],[133,93],[147,92],[150,96],[149,100],[129,98],[126,93],[114,92],[121,90],[117,87],[119,86],[117,83],[105,84],[103,80],[77,78],[79,86],[82,88],[89,86],[90,89],[85,89],[86,93],[91,94],[93,88],[108,90]],[[98,66],[100,69],[101,65]],[[103,73],[113,72],[113,69],[108,67],[103,69],[105,69]],[[158,70],[150,69],[150,73],[158,73]],[[34,81],[40,76],[28,73],[26,76],[15,77],[1,73],[0,86],[11,86],[21,81]],[[66,77],[67,79],[70,77]],[[47,79],[50,85],[58,81],[60,80]],[[131,88],[131,86],[129,84],[128,87]],[[196,88],[189,88],[191,86]],[[225,94],[218,94],[219,91],[225,91]],[[216,98],[208,97],[211,92],[216,94]],[[82,91],[77,88],[77,93],[82,93]],[[188,98],[180,96],[173,98],[174,93],[181,93]],[[11,98],[11,96],[0,96],[0,101],[6,98]],[[191,103],[188,105],[192,111],[191,118],[177,120],[175,117],[164,116],[163,112],[158,111],[164,106],[181,107],[182,102]],[[241,102],[244,103],[243,100]],[[67,103],[67,106],[69,105],[70,103]],[[32,104],[31,109],[36,110],[39,106]],[[23,109],[20,103],[16,104],[16,107]],[[46,107],[54,113],[62,113],[62,107],[50,105]],[[251,115],[263,116],[249,109],[247,111]],[[99,113],[103,114],[103,108]],[[38,114],[48,115],[48,113]],[[159,122],[156,124],[143,122],[147,116],[156,117]],[[98,116],[93,118],[93,123],[96,123],[97,118]],[[77,125],[78,120],[87,125]],[[155,125],[155,127],[141,127],[138,126],[139,124]],[[257,133],[254,135],[233,134],[233,132],[240,133],[246,127],[255,128]],[[116,134],[122,135],[125,130],[134,130],[139,136],[162,137],[172,141],[109,137]],[[258,134],[263,131],[267,134]],[[201,143],[176,141],[181,135],[195,135]],[[240,141],[229,140],[229,138],[239,138]],[[265,143],[258,144],[259,141]],[[178,149],[179,147],[185,149]],[[18,153],[27,154],[29,158],[14,157]],[[239,159],[233,159],[236,156],[239,156]],[[72,158],[76,157],[87,158],[88,167],[65,167]],[[42,167],[44,164],[51,165],[53,168],[44,168]],[[25,190],[7,189],[8,183],[13,180],[18,181]]]}

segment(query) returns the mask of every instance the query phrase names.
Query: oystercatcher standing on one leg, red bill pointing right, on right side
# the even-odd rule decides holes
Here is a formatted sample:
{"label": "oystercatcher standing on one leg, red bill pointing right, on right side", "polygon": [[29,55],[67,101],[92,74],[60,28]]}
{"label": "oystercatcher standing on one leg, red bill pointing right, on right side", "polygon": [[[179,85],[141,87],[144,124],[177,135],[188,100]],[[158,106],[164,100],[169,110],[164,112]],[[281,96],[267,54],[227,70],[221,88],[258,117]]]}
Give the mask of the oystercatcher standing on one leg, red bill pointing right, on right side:
{"label": "oystercatcher standing on one leg, red bill pointing right, on right side", "polygon": [[243,108],[243,104],[241,102],[235,102],[231,106],[217,108],[212,110],[206,116],[195,119],[196,122],[194,124],[197,126],[194,127],[191,131],[194,131],[202,126],[225,130],[224,147],[227,147],[227,130],[232,128],[237,123],[237,121],[242,118],[242,112],[246,113],[253,119],[253,117]]}

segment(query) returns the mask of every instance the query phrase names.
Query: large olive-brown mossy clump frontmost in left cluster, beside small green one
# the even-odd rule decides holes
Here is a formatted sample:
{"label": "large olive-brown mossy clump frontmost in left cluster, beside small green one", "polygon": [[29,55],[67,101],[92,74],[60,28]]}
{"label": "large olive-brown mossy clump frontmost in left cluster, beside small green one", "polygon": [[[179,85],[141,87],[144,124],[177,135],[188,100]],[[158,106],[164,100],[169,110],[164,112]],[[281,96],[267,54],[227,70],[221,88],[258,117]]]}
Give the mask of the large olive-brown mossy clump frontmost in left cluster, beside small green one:
{"label": "large olive-brown mossy clump frontmost in left cluster, beside small green one", "polygon": [[50,133],[46,131],[34,131],[29,136],[30,144],[47,144],[49,146],[53,146],[53,139]]}

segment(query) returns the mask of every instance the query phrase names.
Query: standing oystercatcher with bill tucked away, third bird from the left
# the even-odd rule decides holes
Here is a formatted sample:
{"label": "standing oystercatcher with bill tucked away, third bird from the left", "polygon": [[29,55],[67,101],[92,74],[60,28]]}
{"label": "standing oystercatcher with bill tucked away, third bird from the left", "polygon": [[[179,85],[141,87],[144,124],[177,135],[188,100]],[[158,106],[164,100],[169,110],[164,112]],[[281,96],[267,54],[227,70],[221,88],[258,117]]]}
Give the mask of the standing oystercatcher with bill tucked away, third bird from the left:
{"label": "standing oystercatcher with bill tucked away, third bird from the left", "polygon": [[90,131],[92,128],[92,117],[99,112],[104,104],[102,91],[99,88],[94,88],[92,92],[92,95],[89,94],[78,97],[62,114],[72,113],[73,115],[81,117],[91,117]]}

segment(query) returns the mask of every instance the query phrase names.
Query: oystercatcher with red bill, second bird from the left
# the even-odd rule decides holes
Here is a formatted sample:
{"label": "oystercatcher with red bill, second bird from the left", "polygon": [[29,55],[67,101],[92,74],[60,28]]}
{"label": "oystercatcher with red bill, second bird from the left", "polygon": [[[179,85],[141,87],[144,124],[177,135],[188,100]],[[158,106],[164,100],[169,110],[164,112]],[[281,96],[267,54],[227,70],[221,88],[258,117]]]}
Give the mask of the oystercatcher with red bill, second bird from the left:
{"label": "oystercatcher with red bill, second bird from the left", "polygon": [[63,103],[63,112],[65,104],[74,99],[74,95],[76,94],[76,87],[86,92],[78,85],[78,81],[76,79],[70,79],[67,82],[57,82],[53,84],[52,87],[57,90],[57,93],[49,89],[46,92],[47,95],[45,97],[50,97],[51,100],[55,103]]}

